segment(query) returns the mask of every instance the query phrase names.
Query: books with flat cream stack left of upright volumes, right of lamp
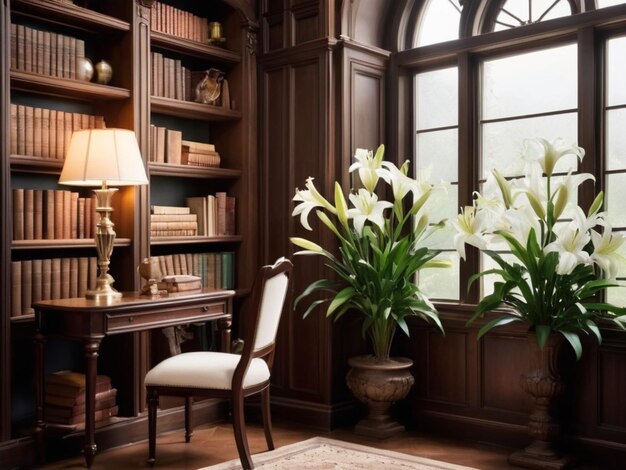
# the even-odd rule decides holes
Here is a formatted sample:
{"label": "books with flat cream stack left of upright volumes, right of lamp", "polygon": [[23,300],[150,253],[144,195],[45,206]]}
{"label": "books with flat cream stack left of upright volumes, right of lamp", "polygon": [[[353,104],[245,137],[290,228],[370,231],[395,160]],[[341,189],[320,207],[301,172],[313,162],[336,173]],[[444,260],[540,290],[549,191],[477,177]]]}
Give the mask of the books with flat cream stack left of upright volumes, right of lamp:
{"label": "books with flat cream stack left of upright volumes, right of lamp", "polygon": [[[196,224],[196,233],[193,235],[201,237],[231,236],[235,235],[235,202],[234,196],[228,196],[223,191],[218,191],[214,195],[188,197],[185,199],[186,205],[184,207],[152,206],[150,220],[151,223],[168,223],[172,230],[182,229],[184,223],[194,223]],[[165,226],[160,227],[165,229]],[[161,230],[152,233],[152,236],[178,235]]]}

